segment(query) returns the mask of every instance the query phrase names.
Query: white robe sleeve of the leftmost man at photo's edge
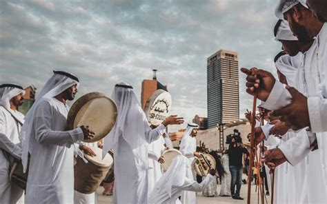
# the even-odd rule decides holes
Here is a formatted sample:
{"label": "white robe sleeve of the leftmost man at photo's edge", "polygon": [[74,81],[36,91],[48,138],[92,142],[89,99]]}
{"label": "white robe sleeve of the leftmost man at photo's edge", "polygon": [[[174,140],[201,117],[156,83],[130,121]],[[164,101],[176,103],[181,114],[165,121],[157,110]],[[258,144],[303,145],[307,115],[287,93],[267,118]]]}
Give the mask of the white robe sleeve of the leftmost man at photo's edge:
{"label": "white robe sleeve of the leftmost man at photo's edge", "polygon": [[17,159],[21,159],[21,147],[12,143],[9,137],[6,136],[6,121],[5,115],[0,111],[0,148],[12,154]]}

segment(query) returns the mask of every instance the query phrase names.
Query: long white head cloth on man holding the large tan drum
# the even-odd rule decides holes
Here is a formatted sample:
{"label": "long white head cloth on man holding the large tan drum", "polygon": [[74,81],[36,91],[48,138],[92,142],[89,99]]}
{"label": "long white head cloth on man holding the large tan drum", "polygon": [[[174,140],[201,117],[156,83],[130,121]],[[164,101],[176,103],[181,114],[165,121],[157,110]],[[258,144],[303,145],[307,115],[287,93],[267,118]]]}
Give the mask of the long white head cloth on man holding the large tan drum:
{"label": "long white head cloth on man holding the large tan drum", "polygon": [[21,136],[23,139],[21,161],[23,163],[24,172],[26,171],[28,163],[28,152],[32,152],[33,145],[37,143],[34,131],[34,114],[37,107],[42,101],[52,99],[54,96],[57,96],[75,84],[77,84],[77,86],[79,85],[79,82],[75,79],[63,74],[53,74],[43,86],[30,110],[28,110],[28,113],[25,116],[25,123],[23,123],[23,127],[21,128]]}

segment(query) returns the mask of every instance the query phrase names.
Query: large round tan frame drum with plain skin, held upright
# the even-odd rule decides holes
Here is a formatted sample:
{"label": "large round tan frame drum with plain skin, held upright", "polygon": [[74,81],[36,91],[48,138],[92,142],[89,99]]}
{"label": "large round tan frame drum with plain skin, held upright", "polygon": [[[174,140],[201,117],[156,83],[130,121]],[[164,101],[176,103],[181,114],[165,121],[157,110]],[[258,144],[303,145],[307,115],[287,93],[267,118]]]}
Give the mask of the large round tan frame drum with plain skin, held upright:
{"label": "large round tan frame drum with plain skin, held upright", "polygon": [[67,128],[72,130],[81,125],[88,125],[95,137],[83,142],[93,143],[103,139],[114,127],[117,119],[115,101],[99,92],[91,92],[77,99],[67,117]]}

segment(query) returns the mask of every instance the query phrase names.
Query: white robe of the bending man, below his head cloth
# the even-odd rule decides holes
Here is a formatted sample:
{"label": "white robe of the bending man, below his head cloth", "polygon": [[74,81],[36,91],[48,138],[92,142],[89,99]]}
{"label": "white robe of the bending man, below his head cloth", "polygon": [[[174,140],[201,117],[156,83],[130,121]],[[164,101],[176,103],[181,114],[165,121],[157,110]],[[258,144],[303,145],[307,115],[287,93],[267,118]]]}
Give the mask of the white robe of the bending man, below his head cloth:
{"label": "white robe of the bending man, below his head cloth", "polygon": [[[169,194],[161,189],[155,189],[151,192],[148,203],[149,204],[175,204],[177,198],[181,196],[182,191],[190,191],[190,192],[201,192],[207,187],[209,183],[214,181],[215,176],[208,174],[206,179],[204,179],[201,183],[197,183],[192,179],[185,178],[184,184],[181,186],[172,186],[171,198]],[[192,203],[188,203],[192,204]]]}

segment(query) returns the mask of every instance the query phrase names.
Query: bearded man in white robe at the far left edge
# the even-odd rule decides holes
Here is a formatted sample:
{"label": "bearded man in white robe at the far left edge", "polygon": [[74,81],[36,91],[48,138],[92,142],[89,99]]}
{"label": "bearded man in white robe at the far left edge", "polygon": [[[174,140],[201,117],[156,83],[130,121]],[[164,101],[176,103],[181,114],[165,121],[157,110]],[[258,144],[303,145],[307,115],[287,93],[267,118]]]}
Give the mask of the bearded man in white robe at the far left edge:
{"label": "bearded man in white robe at the far left edge", "polygon": [[23,189],[9,179],[10,163],[21,159],[19,131],[24,116],[17,111],[25,91],[19,85],[0,85],[0,203],[24,203]]}

